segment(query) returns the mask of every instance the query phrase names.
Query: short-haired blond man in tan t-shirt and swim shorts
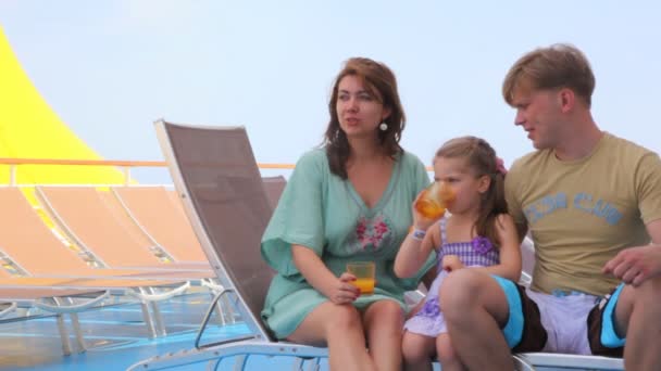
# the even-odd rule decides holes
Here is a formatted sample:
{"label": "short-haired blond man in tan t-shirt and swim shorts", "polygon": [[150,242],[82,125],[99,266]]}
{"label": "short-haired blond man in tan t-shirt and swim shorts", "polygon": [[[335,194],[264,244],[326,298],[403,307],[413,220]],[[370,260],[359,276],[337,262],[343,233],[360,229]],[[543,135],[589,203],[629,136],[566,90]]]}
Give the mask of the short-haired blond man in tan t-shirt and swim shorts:
{"label": "short-haired blond man in tan t-shirt and swim shorts", "polygon": [[569,44],[525,54],[504,79],[515,125],[537,150],[506,178],[536,264],[527,290],[472,269],[446,279],[440,303],[469,369],[512,370],[508,348],[661,367],[661,161],[597,127],[594,88],[588,61]]}

